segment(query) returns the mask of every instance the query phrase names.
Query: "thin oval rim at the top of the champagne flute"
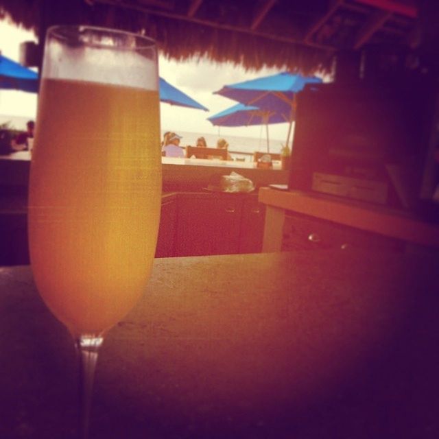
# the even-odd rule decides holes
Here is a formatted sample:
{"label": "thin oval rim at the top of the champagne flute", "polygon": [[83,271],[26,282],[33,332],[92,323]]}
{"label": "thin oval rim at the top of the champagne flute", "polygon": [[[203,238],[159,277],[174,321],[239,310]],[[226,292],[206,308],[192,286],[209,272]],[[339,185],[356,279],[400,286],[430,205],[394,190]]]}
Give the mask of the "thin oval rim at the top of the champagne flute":
{"label": "thin oval rim at the top of the champagne flute", "polygon": [[[62,32],[64,31],[64,32]],[[115,46],[106,43],[97,43],[95,41],[84,41],[79,37],[84,35],[84,31],[94,32],[95,34],[102,34],[108,36],[128,36],[135,38],[136,42],[141,41],[142,45],[132,46]],[[112,29],[110,27],[92,26],[92,25],[53,25],[47,29],[47,38],[53,37],[57,40],[64,42],[78,43],[86,47],[95,47],[101,49],[126,49],[126,50],[142,50],[142,49],[152,49],[157,48],[157,43],[154,38],[150,36],[145,36],[141,34],[136,34],[134,32],[129,32],[121,29]]]}

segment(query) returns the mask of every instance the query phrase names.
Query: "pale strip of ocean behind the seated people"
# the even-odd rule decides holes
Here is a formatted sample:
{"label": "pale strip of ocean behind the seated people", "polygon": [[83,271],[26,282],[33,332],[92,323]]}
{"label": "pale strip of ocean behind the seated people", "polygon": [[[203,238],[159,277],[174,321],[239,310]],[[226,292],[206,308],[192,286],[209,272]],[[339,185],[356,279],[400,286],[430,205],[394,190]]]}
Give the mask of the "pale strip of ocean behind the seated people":
{"label": "pale strip of ocean behind the seated people", "polygon": [[[0,115],[0,124],[10,122],[10,125],[16,130],[26,130],[26,122],[29,117]],[[265,130],[263,130],[265,133]],[[162,130],[162,138],[165,133]],[[180,145],[192,145],[195,146],[198,137],[204,137],[209,147],[216,147],[217,140],[223,137],[218,134],[210,134],[206,132],[189,132],[178,131],[178,134],[182,136]],[[255,151],[267,152],[267,139],[264,135],[260,138],[256,137],[241,137],[241,136],[224,136],[224,139],[228,141],[228,150],[233,158],[245,158],[246,161],[252,161],[252,154]],[[285,139],[270,139],[270,152],[281,152],[281,145],[285,143]]]}

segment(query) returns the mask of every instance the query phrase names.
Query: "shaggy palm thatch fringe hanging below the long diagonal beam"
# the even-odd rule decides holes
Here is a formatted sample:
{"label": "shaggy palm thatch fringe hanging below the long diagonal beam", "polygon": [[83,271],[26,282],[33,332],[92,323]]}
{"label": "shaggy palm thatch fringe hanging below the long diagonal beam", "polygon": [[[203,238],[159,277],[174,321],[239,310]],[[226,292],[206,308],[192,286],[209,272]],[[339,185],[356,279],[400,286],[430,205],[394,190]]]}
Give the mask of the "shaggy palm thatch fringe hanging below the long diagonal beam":
{"label": "shaggy palm thatch fringe hanging below the long diagonal beam", "polygon": [[208,58],[246,69],[276,67],[305,75],[331,69],[331,51],[259,35],[233,32],[200,23],[148,14],[117,5],[83,0],[0,0],[0,17],[40,29],[53,24],[91,24],[145,34],[157,40],[161,53],[174,60]]}

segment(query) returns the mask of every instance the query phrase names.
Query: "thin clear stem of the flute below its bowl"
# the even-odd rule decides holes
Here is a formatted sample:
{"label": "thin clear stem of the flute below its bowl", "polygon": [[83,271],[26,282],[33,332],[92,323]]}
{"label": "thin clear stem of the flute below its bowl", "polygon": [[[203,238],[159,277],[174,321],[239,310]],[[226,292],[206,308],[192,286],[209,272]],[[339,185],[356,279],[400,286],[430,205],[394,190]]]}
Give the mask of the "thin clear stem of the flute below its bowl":
{"label": "thin clear stem of the flute below its bowl", "polygon": [[88,438],[90,425],[91,396],[93,393],[93,380],[97,354],[104,341],[101,335],[81,335],[76,339],[76,348],[80,360],[80,438]]}

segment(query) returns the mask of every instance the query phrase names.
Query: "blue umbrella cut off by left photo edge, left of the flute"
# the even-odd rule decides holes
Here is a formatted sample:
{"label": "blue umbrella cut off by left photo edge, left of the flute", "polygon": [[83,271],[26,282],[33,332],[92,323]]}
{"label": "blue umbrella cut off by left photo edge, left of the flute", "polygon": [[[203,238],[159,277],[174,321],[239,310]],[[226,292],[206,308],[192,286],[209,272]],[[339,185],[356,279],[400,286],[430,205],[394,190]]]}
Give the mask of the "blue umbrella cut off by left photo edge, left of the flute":
{"label": "blue umbrella cut off by left photo edge, left of the flute", "polygon": [[38,74],[18,62],[0,55],[0,88],[38,91]]}

